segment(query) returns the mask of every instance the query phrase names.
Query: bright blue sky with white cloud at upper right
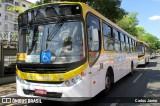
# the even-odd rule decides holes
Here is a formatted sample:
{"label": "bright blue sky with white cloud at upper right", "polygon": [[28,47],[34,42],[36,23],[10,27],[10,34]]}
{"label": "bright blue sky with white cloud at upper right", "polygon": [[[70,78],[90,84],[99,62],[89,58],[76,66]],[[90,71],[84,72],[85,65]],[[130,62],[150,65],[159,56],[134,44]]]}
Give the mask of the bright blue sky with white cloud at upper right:
{"label": "bright blue sky with white cloud at upper right", "polygon": [[[37,0],[28,0],[35,3]],[[160,39],[160,0],[122,0],[126,12],[137,12],[139,26]]]}

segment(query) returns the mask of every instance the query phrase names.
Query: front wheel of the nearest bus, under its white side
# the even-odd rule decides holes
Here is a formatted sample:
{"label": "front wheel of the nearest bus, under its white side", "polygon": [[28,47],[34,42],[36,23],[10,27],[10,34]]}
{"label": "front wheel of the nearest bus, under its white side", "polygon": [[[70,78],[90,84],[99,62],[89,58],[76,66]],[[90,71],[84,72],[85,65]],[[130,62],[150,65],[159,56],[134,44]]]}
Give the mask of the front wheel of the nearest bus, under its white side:
{"label": "front wheel of the nearest bus, under its white side", "polygon": [[112,79],[111,79],[111,74],[107,72],[106,78],[105,78],[105,94],[108,94],[112,85]]}

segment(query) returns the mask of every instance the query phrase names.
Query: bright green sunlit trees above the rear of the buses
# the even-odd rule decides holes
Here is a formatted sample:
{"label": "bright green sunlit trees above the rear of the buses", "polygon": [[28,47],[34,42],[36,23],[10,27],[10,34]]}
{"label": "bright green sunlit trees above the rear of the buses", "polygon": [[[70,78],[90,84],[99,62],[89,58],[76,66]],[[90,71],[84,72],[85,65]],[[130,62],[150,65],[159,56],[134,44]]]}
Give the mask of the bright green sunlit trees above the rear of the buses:
{"label": "bright green sunlit trees above the rear of the buses", "polygon": [[151,49],[160,48],[159,39],[150,33],[146,33],[143,27],[138,26],[137,15],[138,13],[136,12],[129,13],[117,22],[118,26],[135,36],[138,40],[146,42]]}

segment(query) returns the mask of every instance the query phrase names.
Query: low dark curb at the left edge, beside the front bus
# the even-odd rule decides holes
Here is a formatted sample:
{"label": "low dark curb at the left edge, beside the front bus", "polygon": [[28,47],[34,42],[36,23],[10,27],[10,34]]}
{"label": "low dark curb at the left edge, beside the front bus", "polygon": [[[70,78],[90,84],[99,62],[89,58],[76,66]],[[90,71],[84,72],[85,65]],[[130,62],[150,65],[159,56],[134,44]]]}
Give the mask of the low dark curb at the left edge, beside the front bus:
{"label": "low dark curb at the left edge, beside the front bus", "polygon": [[0,85],[14,83],[14,82],[16,82],[16,76],[0,78]]}

